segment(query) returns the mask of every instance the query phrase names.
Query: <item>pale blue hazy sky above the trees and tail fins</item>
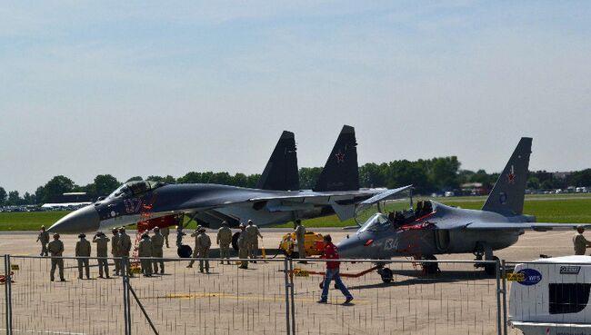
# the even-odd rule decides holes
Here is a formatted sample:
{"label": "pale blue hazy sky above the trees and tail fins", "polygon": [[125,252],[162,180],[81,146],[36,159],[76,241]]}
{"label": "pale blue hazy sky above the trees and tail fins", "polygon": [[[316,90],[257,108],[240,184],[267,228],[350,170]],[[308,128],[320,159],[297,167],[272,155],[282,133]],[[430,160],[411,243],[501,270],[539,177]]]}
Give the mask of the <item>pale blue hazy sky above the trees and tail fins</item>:
{"label": "pale blue hazy sky above the trees and tail fins", "polygon": [[260,173],[284,130],[323,166],[456,155],[591,167],[588,1],[11,1],[0,5],[0,186]]}

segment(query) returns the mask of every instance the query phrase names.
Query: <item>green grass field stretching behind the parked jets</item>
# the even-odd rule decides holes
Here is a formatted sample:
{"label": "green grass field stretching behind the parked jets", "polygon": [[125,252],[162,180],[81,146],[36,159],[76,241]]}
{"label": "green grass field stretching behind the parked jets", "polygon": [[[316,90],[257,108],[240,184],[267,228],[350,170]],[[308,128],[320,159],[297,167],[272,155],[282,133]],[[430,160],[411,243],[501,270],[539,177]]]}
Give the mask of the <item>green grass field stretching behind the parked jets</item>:
{"label": "green grass field stretching behind the parked jets", "polygon": [[[420,200],[420,199],[417,199]],[[437,202],[466,209],[480,209],[486,197],[437,198]],[[591,222],[591,194],[550,194],[526,196],[526,214],[536,215],[538,222]],[[51,226],[68,212],[0,212],[0,231],[37,231],[42,224]],[[335,215],[306,220],[306,227],[346,227],[354,220],[340,222]],[[288,222],[277,227],[293,227]],[[195,222],[189,225],[195,228]]]}

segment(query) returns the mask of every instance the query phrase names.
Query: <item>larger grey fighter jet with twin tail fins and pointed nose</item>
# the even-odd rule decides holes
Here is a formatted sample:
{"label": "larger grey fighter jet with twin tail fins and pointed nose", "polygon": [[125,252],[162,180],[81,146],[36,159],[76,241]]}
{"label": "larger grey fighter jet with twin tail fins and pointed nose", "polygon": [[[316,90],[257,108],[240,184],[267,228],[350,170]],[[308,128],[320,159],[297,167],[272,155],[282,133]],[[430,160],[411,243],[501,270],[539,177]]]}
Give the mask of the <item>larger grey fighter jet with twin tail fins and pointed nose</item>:
{"label": "larger grey fighter jet with twin tail fins and pointed nose", "polygon": [[[219,184],[126,182],[104,200],[55,222],[50,232],[96,232],[178,214],[217,228],[222,221],[236,226],[290,222],[336,213],[352,218],[356,204],[385,192],[359,189],[355,129],[344,126],[314,190],[297,190],[293,133],[284,133],[275,147],[258,189]],[[292,188],[293,187],[293,188]],[[293,190],[293,191],[290,191]]]}

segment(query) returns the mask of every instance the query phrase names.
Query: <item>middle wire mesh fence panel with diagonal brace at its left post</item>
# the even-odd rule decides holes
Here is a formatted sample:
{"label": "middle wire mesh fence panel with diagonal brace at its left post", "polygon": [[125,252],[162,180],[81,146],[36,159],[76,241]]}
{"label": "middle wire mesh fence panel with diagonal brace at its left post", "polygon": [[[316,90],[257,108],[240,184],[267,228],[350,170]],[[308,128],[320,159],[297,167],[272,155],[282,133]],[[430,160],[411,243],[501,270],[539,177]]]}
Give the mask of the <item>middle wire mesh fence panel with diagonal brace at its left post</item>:
{"label": "middle wire mesh fence panel with diagonal brace at its left post", "polygon": [[[210,273],[199,261],[165,262],[165,274],[137,276],[131,285],[160,334],[286,334],[284,260],[249,263],[210,260]],[[132,299],[132,330],[151,330]]]}

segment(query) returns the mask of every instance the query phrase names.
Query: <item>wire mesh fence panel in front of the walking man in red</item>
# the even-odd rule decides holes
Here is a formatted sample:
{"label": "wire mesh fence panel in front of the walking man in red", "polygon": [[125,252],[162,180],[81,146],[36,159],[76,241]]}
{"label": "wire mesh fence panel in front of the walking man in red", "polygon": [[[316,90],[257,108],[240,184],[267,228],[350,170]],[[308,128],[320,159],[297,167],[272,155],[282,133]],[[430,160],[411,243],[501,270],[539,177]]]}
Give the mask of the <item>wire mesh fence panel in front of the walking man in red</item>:
{"label": "wire mesh fence panel in front of the walking man in red", "polygon": [[[371,262],[341,262],[341,273],[367,270]],[[441,273],[424,274],[418,263],[392,261],[393,281],[372,271],[343,277],[355,297],[334,288],[327,304],[319,304],[323,261],[295,263],[295,329],[298,334],[497,334],[496,276],[476,270],[471,262],[439,262]],[[298,268],[305,270],[299,272]],[[304,275],[304,276],[302,276]]]}

